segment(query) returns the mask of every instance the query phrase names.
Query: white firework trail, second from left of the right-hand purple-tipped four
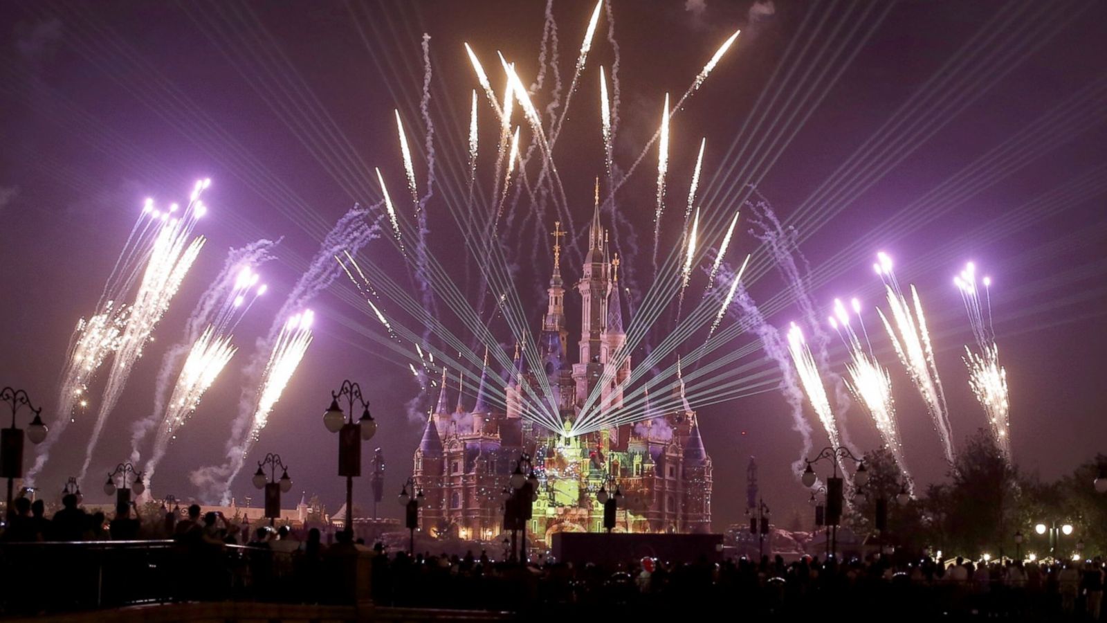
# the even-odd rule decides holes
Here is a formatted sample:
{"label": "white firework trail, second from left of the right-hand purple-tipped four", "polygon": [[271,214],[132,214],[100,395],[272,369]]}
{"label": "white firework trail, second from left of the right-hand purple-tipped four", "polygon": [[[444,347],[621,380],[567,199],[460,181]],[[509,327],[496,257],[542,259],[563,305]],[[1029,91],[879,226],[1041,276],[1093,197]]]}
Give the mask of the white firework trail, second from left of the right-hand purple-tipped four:
{"label": "white firework trail, second from left of the right-hand purple-tipped four", "polygon": [[[867,335],[865,320],[861,317],[860,302],[855,298],[851,300],[851,305],[862,333]],[[846,387],[872,417],[872,422],[877,427],[877,432],[880,433],[884,448],[891,452],[896,464],[903,472],[908,492],[914,494],[914,481],[903,459],[903,443],[900,440],[899,426],[896,420],[896,402],[892,399],[892,381],[888,369],[877,361],[871,347],[866,348],[862,345],[860,337],[850,324],[849,312],[839,299],[834,302],[834,313],[835,315],[829,317],[830,326],[838,331],[849,351],[850,360],[846,364],[846,372],[849,378],[846,380]],[[866,344],[868,344],[868,338],[866,338]]]}

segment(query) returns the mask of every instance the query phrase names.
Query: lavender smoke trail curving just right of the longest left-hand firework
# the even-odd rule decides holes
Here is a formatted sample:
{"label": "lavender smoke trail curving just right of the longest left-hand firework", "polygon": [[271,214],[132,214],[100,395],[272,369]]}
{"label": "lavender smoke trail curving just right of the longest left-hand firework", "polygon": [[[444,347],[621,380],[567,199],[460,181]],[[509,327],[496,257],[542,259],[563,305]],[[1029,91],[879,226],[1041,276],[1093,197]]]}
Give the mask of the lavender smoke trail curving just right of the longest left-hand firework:
{"label": "lavender smoke trail curving just right of the longest left-hand firework", "polygon": [[[232,248],[227,254],[219,274],[211,282],[211,285],[200,295],[196,307],[185,321],[184,337],[168,349],[162,358],[162,366],[157,376],[154,391],[154,411],[146,418],[135,422],[131,438],[131,461],[138,463],[141,452],[139,445],[146,435],[154,429],[166,413],[166,398],[169,395],[173,374],[178,369],[182,359],[195,349],[195,345],[208,331],[214,330],[216,336],[227,335],[234,330],[236,314],[238,317],[246,314],[249,305],[242,308],[242,304],[236,305],[244,299],[244,295],[251,289],[255,298],[258,293],[263,293],[263,285],[257,285],[252,278],[252,268],[272,259],[272,248],[276,242],[260,239],[241,248]],[[255,287],[257,286],[257,287]],[[213,341],[214,337],[208,339]],[[149,481],[147,480],[147,486]],[[148,489],[148,487],[147,487]]]}

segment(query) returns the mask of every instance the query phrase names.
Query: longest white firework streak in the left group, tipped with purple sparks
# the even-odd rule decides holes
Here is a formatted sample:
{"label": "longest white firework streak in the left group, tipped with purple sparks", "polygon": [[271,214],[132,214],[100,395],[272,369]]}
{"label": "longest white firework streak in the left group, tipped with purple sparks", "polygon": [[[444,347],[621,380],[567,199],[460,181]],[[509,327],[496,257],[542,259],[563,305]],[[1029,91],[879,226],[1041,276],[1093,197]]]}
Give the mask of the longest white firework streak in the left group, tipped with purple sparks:
{"label": "longest white firework streak in the left group, tipped with purple sparks", "polygon": [[162,224],[151,243],[142,278],[138,282],[130,315],[120,338],[120,346],[112,359],[112,367],[108,370],[96,413],[96,422],[89,438],[84,463],[77,474],[77,480],[84,480],[89,471],[92,453],[100,441],[108,415],[115,409],[115,405],[126,387],[132,367],[142,357],[146,341],[149,340],[158,321],[169,308],[182,282],[204,247],[204,237],[193,238],[192,234],[197,221],[207,213],[207,207],[200,195],[210,183],[210,180],[196,182],[192,197],[179,215],[176,214],[177,204],[173,204],[169,212],[163,213],[161,216]]}

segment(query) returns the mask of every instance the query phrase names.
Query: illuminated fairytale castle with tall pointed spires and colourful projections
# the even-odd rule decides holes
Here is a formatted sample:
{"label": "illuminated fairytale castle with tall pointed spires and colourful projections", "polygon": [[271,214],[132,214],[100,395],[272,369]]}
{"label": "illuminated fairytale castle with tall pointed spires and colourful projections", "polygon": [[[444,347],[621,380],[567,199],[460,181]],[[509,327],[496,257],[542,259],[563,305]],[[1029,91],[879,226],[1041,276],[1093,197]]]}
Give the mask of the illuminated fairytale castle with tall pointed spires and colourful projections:
{"label": "illuminated fairytale castle with tall pointed spires and colourful projections", "polygon": [[[538,545],[548,545],[558,531],[602,530],[601,487],[623,493],[615,531],[710,532],[712,466],[700,436],[696,413],[684,399],[683,380],[673,384],[676,409],[651,409],[646,419],[582,435],[565,435],[536,425],[524,413],[548,379],[549,392],[566,433],[592,394],[601,388],[598,409],[623,406],[623,388],[631,376],[629,356],[615,354],[627,340],[619,293],[619,257],[610,259],[599,203],[589,227],[588,253],[576,289],[581,297],[581,335],[577,362],[568,365],[565,282],[560,237],[554,236],[554,274],[546,315],[537,340],[546,376],[528,371],[516,347],[506,379],[489,375],[488,357],[476,401],[464,404],[459,391],[452,407],[449,384],[443,382],[415,450],[414,480],[423,490],[421,529],[433,535],[492,541],[503,532],[504,491],[523,453],[531,457],[539,479],[532,519],[527,525]],[[611,359],[613,368],[606,366]],[[621,360],[620,360],[621,359]],[[493,385],[501,382],[501,385]],[[497,397],[503,409],[494,405]]]}

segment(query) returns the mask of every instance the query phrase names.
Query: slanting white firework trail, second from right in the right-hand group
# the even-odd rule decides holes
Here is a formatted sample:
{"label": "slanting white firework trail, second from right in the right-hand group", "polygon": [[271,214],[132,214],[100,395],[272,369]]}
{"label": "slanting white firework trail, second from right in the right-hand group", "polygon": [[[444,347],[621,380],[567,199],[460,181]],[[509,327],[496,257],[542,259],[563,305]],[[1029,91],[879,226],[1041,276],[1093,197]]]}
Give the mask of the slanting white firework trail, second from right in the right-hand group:
{"label": "slanting white firework trail, second from right in the right-hand group", "polygon": [[[914,315],[912,306],[908,304],[907,297],[899,287],[896,273],[892,270],[892,261],[884,254],[877,254],[877,263],[873,269],[880,275],[884,283],[884,290],[888,298],[888,307],[892,321],[880,309],[880,321],[888,331],[896,355],[907,369],[908,375],[914,382],[919,395],[927,405],[927,412],[930,415],[938,431],[939,440],[942,442],[942,452],[946,462],[953,464],[953,439],[950,428],[949,416],[945,410],[945,397],[942,392],[938,378],[938,368],[933,365],[933,353],[930,349],[930,336],[927,331],[925,319],[922,315],[922,304],[919,300],[919,293],[911,286],[911,298],[913,299]],[[897,328],[899,329],[897,331]]]}

